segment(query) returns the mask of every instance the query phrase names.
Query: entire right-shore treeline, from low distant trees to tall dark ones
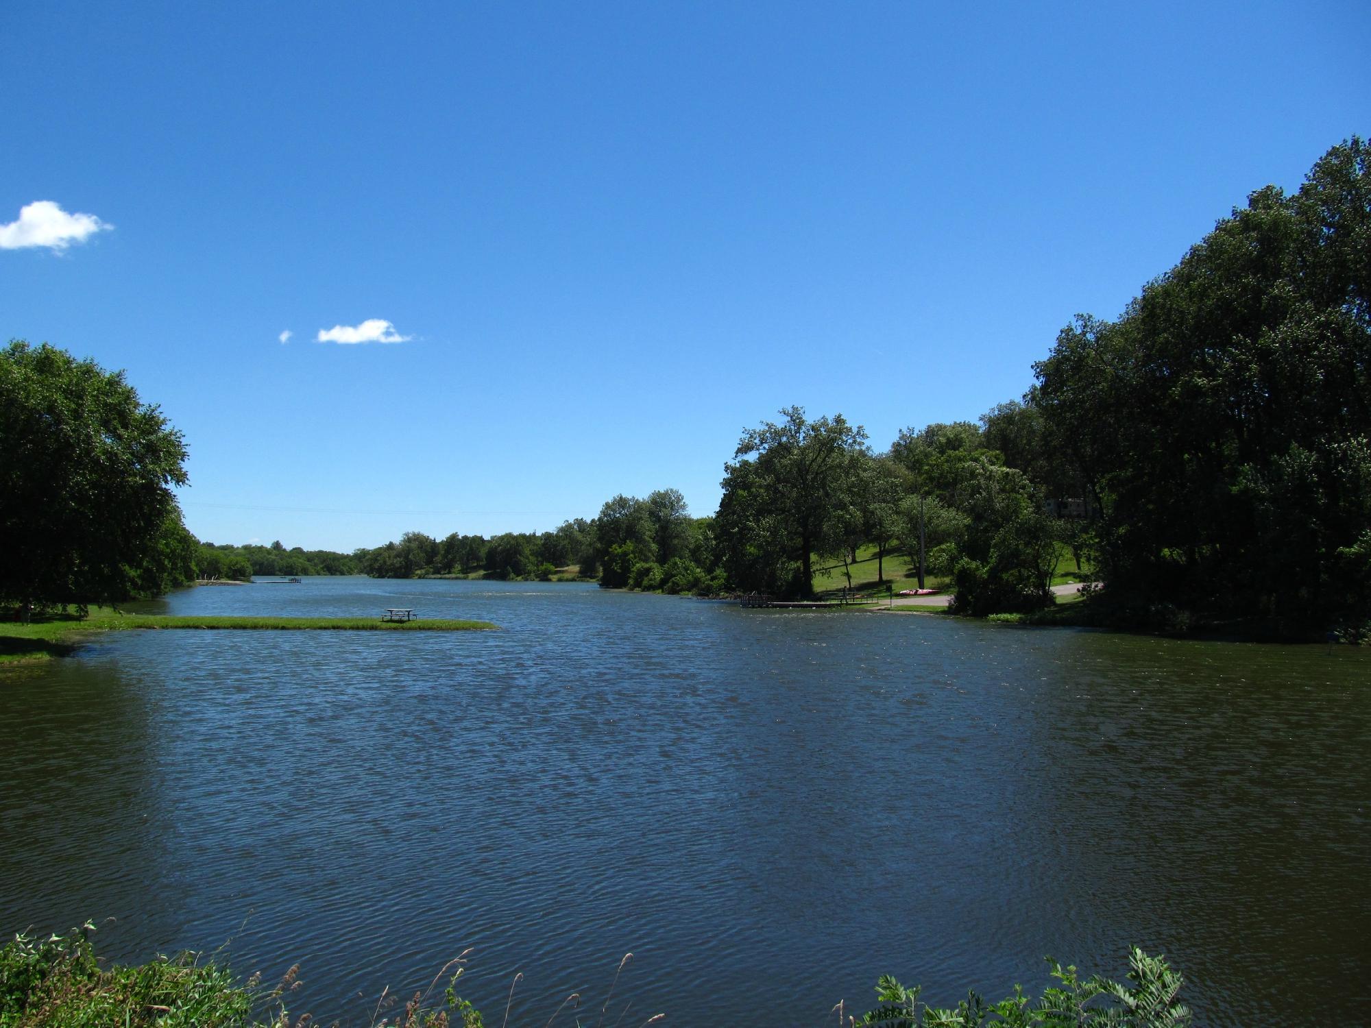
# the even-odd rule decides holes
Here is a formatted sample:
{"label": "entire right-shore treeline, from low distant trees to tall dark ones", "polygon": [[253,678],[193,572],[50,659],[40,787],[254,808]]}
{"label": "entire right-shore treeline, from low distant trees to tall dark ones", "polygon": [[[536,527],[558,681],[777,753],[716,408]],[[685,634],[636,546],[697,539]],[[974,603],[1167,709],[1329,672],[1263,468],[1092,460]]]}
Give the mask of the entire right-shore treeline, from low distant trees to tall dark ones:
{"label": "entire right-shore treeline, from low distant trees to tall dark ones", "polygon": [[[1353,138],[1260,189],[1113,322],[1080,317],[1021,402],[884,451],[802,408],[746,430],[714,517],[614,496],[542,535],[406,533],[367,574],[554,576],[809,595],[814,558],[924,554],[956,609],[1052,602],[1061,543],[1116,622],[1274,632],[1371,624],[1371,167]],[[877,577],[883,577],[877,572]]]}

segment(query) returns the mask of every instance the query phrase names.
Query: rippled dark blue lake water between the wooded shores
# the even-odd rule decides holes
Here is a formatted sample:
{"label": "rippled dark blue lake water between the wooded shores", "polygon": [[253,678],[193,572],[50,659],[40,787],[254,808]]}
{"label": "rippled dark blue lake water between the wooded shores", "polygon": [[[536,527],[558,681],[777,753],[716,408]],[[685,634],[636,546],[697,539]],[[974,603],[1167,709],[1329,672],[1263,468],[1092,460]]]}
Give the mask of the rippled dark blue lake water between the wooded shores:
{"label": "rippled dark blue lake water between the wooded shores", "polygon": [[[832,1024],[1164,951],[1211,1025],[1367,1023],[1371,659],[591,585],[306,578],[0,674],[0,932],[214,949],[365,1024],[476,947],[542,1025]],[[367,999],[370,998],[370,999]],[[1318,1014],[1313,1010],[1318,1009]],[[765,1012],[765,1013],[764,1013]],[[836,1014],[834,1014],[836,1016]],[[565,1017],[565,1014],[563,1014]],[[572,1023],[570,1018],[566,1020]]]}

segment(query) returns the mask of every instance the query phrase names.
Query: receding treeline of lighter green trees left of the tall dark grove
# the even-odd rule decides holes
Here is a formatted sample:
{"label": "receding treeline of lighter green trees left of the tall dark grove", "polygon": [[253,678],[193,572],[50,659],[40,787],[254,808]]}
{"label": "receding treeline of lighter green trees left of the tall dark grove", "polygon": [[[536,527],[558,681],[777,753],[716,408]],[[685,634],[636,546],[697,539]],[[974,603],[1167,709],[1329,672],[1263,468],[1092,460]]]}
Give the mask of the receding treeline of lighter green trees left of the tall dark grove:
{"label": "receding treeline of lighter green trees left of the tall dark grove", "polygon": [[[905,552],[917,561],[923,537],[927,573],[951,576],[988,547],[980,536],[991,518],[1013,517],[1019,535],[1031,539],[1020,540],[1012,555],[1001,540],[998,555],[1028,562],[1031,581],[1019,584],[1023,595],[986,600],[1010,610],[1023,609],[1026,598],[1028,606],[1043,602],[1057,540],[1079,544],[1079,526],[1054,517],[1071,504],[1045,504],[1027,470],[1010,465],[1050,482],[1053,496],[1082,489],[1071,469],[1042,452],[1042,426],[1031,407],[1006,403],[980,424],[906,429],[880,454],[840,415],[808,421],[799,408],[783,415],[781,424],[744,433],[713,517],[692,517],[679,489],[617,495],[596,517],[553,532],[494,539],[452,533],[443,540],[406,532],[399,541],[359,550],[361,570],[385,578],[579,577],[607,588],[701,596],[809,595],[814,556],[847,562],[858,547],[872,546],[877,580],[884,581],[884,558]],[[995,495],[994,510],[986,509],[987,489]]]}

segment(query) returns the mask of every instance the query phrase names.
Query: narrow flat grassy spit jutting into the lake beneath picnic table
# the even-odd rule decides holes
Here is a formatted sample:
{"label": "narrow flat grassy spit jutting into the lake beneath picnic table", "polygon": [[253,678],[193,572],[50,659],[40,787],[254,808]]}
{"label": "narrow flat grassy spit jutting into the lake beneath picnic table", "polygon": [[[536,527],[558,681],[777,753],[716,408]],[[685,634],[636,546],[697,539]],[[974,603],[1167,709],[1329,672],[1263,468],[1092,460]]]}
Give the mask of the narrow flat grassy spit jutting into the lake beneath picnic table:
{"label": "narrow flat grassy spit jutting into the lake beneath picnic table", "polygon": [[122,614],[110,607],[92,607],[86,617],[53,614],[32,624],[0,622],[0,663],[47,661],[73,651],[82,636],[96,632],[128,631],[248,631],[248,632],[480,632],[495,629],[488,621],[417,618],[381,621],[365,618],[291,617],[170,617],[163,614]]}

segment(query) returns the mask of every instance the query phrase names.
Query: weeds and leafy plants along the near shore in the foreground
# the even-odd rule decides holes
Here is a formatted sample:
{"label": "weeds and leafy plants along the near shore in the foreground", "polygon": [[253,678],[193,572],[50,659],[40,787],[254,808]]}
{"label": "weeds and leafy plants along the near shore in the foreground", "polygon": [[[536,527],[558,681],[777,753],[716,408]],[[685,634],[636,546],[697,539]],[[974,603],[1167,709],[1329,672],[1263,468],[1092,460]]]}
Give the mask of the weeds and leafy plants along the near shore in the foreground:
{"label": "weeds and leafy plants along the near shore in the foreground", "polygon": [[[19,935],[0,947],[0,1028],[291,1028],[310,1020],[308,1014],[292,1020],[285,1006],[296,986],[298,966],[291,968],[274,988],[263,987],[255,976],[240,981],[226,965],[193,953],[101,969],[90,943],[92,931],[95,927],[85,924],[67,935],[47,939]],[[620,970],[627,961],[628,957],[620,962]],[[403,1012],[393,1016],[388,1012],[377,1021],[378,1005],[370,1018],[372,1028],[484,1028],[481,1013],[457,994],[465,962],[466,954],[451,961],[433,979],[428,992],[415,994]],[[884,975],[876,986],[875,1009],[847,1020],[843,1003],[834,1009],[839,1012],[839,1023],[868,1028],[994,1024],[1012,1028],[1182,1028],[1191,1021],[1190,1010],[1176,1002],[1182,977],[1164,957],[1130,950],[1127,983],[1098,976],[1082,979],[1075,966],[1064,968],[1052,958],[1047,964],[1057,984],[1036,999],[1016,986],[1013,995],[998,1003],[986,1003],[968,992],[956,1007],[934,1007],[923,1002],[917,986],[906,988]],[[435,996],[444,979],[446,988]],[[574,1006],[573,1001],[579,999],[572,994],[562,1006]],[[554,1012],[547,1024],[559,1013],[561,1009]],[[600,1013],[603,1023],[605,1010]],[[646,1024],[661,1018],[662,1014],[657,1014]]]}

